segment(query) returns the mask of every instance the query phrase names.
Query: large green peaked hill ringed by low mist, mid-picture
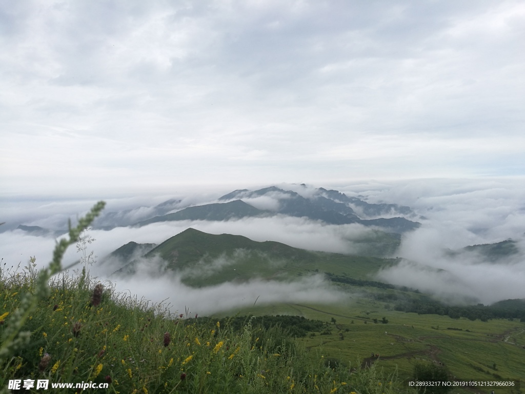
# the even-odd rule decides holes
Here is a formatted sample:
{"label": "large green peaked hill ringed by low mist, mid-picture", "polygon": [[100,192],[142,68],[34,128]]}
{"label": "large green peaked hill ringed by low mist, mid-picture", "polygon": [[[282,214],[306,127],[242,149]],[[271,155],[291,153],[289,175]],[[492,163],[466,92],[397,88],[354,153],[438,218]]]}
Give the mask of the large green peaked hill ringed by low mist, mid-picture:
{"label": "large green peaked hill ringed by low mist, mid-picture", "polygon": [[114,275],[140,272],[141,264],[148,265],[146,261],[153,261],[155,256],[166,263],[161,266],[160,275],[176,272],[183,283],[195,287],[254,278],[288,280],[314,272],[365,279],[394,262],[377,257],[312,252],[280,242],[257,242],[241,235],[214,235],[190,228],[154,247],[142,259],[130,261]]}

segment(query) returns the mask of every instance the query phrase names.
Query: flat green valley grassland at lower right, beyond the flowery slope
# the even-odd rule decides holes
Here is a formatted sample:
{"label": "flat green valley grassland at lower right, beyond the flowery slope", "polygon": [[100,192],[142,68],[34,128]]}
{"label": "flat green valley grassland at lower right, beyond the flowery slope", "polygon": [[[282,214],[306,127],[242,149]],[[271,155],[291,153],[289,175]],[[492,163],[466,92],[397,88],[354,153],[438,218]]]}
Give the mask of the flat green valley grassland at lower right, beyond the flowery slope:
{"label": "flat green valley grassland at lower right, beyond the flowery slope", "polygon": [[[378,289],[369,290],[372,294],[379,292]],[[525,345],[525,324],[507,319],[481,322],[417,315],[387,310],[385,305],[370,298],[355,297],[349,298],[346,304],[278,304],[236,312],[256,316],[293,314],[323,320],[329,323],[331,334],[321,335],[318,331],[315,336],[298,339],[310,352],[316,354],[320,351],[325,357],[339,360],[359,358],[363,360],[363,366],[370,364],[373,352],[380,355],[372,359],[374,365],[383,368],[386,373],[397,371],[401,379],[411,376],[416,362],[427,360],[444,363],[460,379],[520,379],[524,384],[525,349],[522,345]],[[381,324],[383,317],[388,320],[387,324]],[[335,324],[331,322],[332,318],[336,320]],[[379,323],[374,324],[374,318]],[[496,370],[493,364],[496,364]]]}

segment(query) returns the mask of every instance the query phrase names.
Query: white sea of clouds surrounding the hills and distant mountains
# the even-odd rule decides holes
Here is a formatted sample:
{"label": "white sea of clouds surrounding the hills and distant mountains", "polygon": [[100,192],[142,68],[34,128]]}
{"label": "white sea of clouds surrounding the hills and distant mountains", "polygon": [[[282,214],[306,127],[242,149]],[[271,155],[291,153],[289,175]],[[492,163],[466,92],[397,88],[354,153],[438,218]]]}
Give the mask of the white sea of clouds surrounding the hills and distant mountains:
{"label": "white sea of clouds surrounding the hills and distant mountains", "polygon": [[[400,263],[378,273],[376,280],[418,288],[434,294],[446,302],[458,303],[464,299],[484,304],[508,298],[525,298],[525,184],[522,179],[428,179],[411,181],[369,181],[346,185],[323,187],[337,189],[347,195],[363,196],[371,203],[387,202],[408,205],[421,215],[422,226],[402,236],[396,255]],[[305,197],[313,194],[313,188],[300,185],[278,184],[285,190],[293,190]],[[256,188],[250,188],[255,190]],[[231,190],[227,190],[228,192]],[[184,206],[217,202],[223,191],[212,191],[180,196],[133,197],[110,199],[107,212],[128,210],[126,215],[141,220],[151,213],[151,207],[169,198]],[[264,198],[246,199],[257,208],[275,210],[279,194]],[[45,265],[51,260],[55,239],[33,236],[16,230],[15,224],[39,225],[50,229],[64,229],[68,217],[73,221],[85,213],[93,201],[48,200],[8,201],[0,210],[0,222],[6,227],[0,233],[0,258],[4,267],[24,265],[30,256]],[[89,246],[100,257],[130,241],[159,244],[188,227],[212,234],[244,235],[255,241],[278,241],[309,250],[356,253],[356,241],[369,232],[361,225],[328,225],[306,218],[276,215],[246,218],[227,222],[177,221],[153,223],[148,226],[123,226],[111,230],[91,230],[96,241]],[[450,256],[447,250],[459,250],[467,245],[500,242],[512,238],[518,242],[519,253],[507,259],[490,262],[476,253],[460,253]],[[70,247],[64,263],[78,260],[75,247]],[[228,262],[217,264],[226,266]],[[158,267],[161,265],[156,265]],[[190,306],[198,313],[247,306],[254,303],[273,302],[334,302],[342,295],[330,288],[321,277],[281,283],[257,280],[250,283],[225,283],[194,289],[185,286],[178,274],[149,274],[117,279],[119,291],[127,290],[154,302],[169,298],[177,310]],[[106,267],[107,268],[107,267]],[[93,268],[93,274],[101,279],[109,276],[110,269]],[[146,271],[147,271],[146,269]],[[209,270],[208,270],[209,271]],[[213,271],[213,270],[212,270]],[[152,274],[153,273],[153,274]],[[187,275],[187,273],[186,273]],[[195,273],[198,275],[198,272]]]}

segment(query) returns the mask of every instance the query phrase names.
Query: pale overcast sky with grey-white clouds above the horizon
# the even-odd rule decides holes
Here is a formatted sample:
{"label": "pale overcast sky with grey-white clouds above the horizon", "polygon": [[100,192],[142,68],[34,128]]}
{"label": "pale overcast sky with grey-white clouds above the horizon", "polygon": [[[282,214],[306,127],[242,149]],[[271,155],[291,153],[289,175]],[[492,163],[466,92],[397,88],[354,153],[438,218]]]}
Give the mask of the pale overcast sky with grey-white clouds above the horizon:
{"label": "pale overcast sky with grey-white clouds above the horizon", "polygon": [[521,1],[1,2],[0,198],[522,177],[523,37]]}

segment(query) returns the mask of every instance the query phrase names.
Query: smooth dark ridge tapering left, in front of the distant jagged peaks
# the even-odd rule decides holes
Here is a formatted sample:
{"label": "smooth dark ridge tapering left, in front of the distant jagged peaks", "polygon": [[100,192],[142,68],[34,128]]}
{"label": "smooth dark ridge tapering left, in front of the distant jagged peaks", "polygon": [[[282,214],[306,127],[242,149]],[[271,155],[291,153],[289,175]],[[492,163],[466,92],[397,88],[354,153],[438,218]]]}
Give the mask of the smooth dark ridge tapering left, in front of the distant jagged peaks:
{"label": "smooth dark ridge tapering left, in front of the distant jagged peaks", "polygon": [[260,216],[266,211],[259,210],[254,206],[246,204],[241,200],[235,200],[228,203],[215,203],[190,206],[181,211],[170,213],[163,216],[155,216],[151,219],[137,223],[144,226],[150,223],[166,222],[172,220],[230,220],[240,219],[241,217]]}

